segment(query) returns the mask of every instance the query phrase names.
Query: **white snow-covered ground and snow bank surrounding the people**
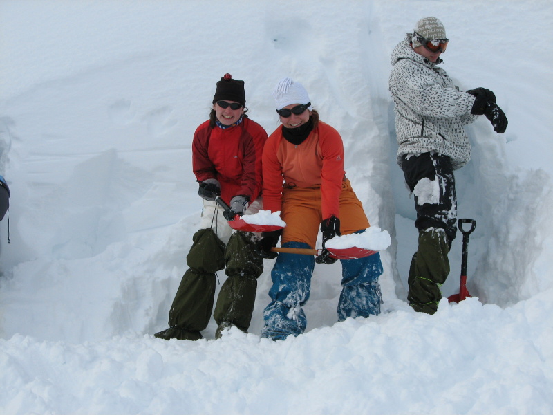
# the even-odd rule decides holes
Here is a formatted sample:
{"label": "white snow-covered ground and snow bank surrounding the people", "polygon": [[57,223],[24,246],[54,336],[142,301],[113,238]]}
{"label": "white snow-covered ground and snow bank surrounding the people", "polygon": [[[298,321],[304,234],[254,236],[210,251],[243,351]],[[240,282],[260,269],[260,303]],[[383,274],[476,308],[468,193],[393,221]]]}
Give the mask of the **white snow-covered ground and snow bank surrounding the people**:
{"label": "white snow-covered ground and snow bank surrounding the people", "polygon": [[[456,175],[478,298],[432,316],[406,304],[415,212],[387,91],[391,51],[429,15],[449,75],[509,118],[503,135],[467,127]],[[0,413],[552,414],[551,21],[547,0],[1,0]],[[348,178],[392,237],[378,317],[337,323],[339,264],[317,265],[308,332],[261,339],[265,261],[250,334],[213,340],[212,321],[207,340],[153,338],[199,223],[192,134],[227,72],[268,133],[283,76],[340,131]]]}

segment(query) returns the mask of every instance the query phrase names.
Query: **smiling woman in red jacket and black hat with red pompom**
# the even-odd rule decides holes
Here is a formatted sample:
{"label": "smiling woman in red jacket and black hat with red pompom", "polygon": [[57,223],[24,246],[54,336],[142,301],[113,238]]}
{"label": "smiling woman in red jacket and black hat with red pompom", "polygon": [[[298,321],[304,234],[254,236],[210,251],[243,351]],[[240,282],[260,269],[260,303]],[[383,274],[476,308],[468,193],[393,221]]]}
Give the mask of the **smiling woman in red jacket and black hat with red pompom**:
{"label": "smiling woman in red jacket and black hat with red pompom", "polygon": [[[190,267],[182,277],[169,311],[169,329],[156,337],[198,340],[212,315],[215,273],[225,269],[214,319],[221,331],[237,326],[247,331],[252,319],[257,277],[263,259],[255,251],[254,236],[234,232],[228,220],[236,214],[256,213],[261,208],[261,155],[267,133],[247,118],[244,81],[228,73],[217,82],[209,120],[200,124],[192,142],[192,165],[204,199],[200,230],[187,255]],[[230,201],[224,212],[214,201]]]}

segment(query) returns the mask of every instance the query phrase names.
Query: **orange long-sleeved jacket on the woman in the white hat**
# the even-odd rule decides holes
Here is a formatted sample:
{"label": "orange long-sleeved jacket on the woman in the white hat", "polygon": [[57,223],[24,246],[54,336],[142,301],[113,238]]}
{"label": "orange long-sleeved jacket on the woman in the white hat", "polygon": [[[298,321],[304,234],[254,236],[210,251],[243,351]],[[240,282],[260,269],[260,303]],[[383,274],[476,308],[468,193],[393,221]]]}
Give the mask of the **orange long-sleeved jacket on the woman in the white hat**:
{"label": "orange long-sleeved jacket on the woman in the white hat", "polygon": [[323,219],[339,217],[339,196],[344,181],[344,144],[334,128],[319,121],[300,145],[285,140],[282,126],[263,149],[263,209],[281,210],[286,187],[320,187]]}

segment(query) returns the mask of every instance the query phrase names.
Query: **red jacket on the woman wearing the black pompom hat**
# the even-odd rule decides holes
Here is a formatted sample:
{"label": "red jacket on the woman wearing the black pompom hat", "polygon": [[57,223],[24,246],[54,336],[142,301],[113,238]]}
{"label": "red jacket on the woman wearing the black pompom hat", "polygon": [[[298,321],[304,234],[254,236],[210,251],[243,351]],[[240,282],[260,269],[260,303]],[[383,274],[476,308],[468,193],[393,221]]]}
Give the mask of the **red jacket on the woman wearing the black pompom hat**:
{"label": "red jacket on the woman wearing the black pompom hat", "polygon": [[238,194],[254,201],[261,194],[261,157],[266,140],[263,127],[249,118],[226,129],[211,128],[207,120],[196,129],[192,142],[196,179],[216,178],[226,203]]}

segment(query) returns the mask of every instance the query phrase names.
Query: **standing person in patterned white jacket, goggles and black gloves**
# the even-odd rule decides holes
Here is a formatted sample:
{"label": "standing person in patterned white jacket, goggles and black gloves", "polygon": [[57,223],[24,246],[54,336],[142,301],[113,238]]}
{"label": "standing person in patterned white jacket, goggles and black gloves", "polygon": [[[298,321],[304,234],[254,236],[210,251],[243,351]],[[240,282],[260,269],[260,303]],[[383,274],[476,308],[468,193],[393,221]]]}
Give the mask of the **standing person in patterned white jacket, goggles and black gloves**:
{"label": "standing person in patterned white jacket, goggles and black gloves", "polygon": [[397,164],[415,196],[418,250],[409,269],[409,304],[433,314],[449,274],[447,254],[456,236],[457,201],[453,171],[470,160],[463,127],[485,115],[497,133],[507,117],[489,89],[462,92],[438,68],[449,40],[442,22],[420,19],[391,55],[388,89],[395,103]]}

